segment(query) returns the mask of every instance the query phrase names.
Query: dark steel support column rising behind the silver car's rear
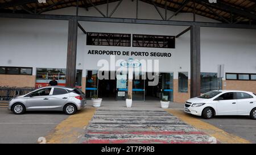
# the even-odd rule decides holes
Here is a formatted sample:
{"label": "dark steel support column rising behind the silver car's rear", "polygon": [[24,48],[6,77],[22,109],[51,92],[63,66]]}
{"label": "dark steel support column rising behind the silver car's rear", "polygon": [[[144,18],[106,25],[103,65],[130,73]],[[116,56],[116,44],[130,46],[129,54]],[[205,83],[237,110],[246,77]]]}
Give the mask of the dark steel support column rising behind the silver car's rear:
{"label": "dark steel support column rising behind the silver car's rear", "polygon": [[68,20],[68,52],[66,86],[74,87],[76,82],[77,19]]}

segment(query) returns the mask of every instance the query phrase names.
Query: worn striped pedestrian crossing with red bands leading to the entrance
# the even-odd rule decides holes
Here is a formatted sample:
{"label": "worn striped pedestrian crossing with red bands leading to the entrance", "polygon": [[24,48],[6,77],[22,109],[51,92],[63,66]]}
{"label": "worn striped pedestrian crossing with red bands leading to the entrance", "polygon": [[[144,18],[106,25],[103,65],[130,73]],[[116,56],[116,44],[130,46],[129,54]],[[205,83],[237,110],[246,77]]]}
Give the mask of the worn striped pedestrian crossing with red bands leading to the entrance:
{"label": "worn striped pedestrian crossing with red bands leading to the entrance", "polygon": [[163,110],[98,109],[82,143],[209,143],[209,138]]}

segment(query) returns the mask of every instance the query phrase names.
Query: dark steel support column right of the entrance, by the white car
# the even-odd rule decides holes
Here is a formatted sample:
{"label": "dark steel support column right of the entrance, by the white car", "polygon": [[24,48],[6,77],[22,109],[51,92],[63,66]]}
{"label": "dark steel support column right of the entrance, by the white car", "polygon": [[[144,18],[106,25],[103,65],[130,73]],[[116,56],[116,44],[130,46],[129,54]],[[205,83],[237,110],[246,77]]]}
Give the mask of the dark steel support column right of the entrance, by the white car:
{"label": "dark steel support column right of the entrance, by the white car", "polygon": [[201,94],[200,71],[200,26],[191,26],[191,98]]}

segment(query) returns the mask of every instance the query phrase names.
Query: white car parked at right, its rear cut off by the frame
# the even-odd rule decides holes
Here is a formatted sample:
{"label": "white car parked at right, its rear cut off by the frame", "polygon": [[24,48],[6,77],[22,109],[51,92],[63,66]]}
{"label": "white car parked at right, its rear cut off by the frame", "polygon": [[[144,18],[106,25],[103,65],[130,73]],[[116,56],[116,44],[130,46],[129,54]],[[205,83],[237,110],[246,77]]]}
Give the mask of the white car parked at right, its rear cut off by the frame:
{"label": "white car parked at right, its rear cut off by the frame", "polygon": [[188,99],[184,111],[210,119],[217,115],[248,115],[256,119],[256,95],[249,91],[214,90]]}

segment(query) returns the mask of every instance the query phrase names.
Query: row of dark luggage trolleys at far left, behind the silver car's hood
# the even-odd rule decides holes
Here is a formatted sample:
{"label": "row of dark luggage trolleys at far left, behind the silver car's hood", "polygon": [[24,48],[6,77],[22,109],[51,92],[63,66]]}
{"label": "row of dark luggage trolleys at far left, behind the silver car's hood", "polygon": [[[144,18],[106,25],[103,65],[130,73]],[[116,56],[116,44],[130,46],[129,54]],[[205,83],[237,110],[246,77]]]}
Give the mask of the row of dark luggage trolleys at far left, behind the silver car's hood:
{"label": "row of dark luggage trolleys at far left, behind the silver car's hood", "polygon": [[35,90],[35,87],[0,86],[0,100],[10,100],[11,98],[30,93],[33,90]]}

